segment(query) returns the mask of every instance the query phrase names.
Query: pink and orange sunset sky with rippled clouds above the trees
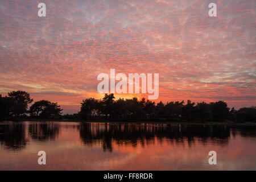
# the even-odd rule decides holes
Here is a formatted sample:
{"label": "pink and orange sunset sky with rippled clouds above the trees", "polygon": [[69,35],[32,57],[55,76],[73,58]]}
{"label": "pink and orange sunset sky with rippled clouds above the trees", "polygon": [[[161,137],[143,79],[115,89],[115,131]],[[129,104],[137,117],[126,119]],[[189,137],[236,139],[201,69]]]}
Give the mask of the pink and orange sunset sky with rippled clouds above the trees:
{"label": "pink and orange sunset sky with rippled clouds above the trees", "polygon": [[1,0],[0,94],[24,90],[76,113],[83,99],[102,98],[97,76],[115,69],[159,73],[155,102],[256,105],[255,10],[255,0]]}

